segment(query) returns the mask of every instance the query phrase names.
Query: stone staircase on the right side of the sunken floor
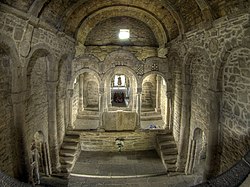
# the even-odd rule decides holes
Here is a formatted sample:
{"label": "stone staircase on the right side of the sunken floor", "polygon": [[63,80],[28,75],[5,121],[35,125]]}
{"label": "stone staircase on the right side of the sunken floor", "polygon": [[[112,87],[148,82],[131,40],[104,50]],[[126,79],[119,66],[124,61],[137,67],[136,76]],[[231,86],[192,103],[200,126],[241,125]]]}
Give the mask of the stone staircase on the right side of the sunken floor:
{"label": "stone staircase on the right side of the sunken floor", "polygon": [[168,172],[176,171],[178,150],[174,137],[170,132],[156,136],[157,152]]}

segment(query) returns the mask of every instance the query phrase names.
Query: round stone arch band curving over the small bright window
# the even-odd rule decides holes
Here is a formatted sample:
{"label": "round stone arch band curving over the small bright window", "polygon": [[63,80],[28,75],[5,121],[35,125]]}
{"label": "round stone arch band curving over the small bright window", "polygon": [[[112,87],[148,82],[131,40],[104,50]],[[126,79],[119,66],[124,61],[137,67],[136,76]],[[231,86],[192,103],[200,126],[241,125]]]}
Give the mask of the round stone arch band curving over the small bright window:
{"label": "round stone arch band curving over the small bright window", "polygon": [[89,15],[85,20],[82,21],[76,32],[77,41],[84,44],[89,32],[100,21],[102,21],[104,17],[105,19],[108,19],[121,16],[131,17],[148,25],[149,28],[153,31],[160,47],[164,47],[168,42],[168,31],[165,30],[162,23],[157,20],[152,14],[142,9],[124,6],[105,7]]}

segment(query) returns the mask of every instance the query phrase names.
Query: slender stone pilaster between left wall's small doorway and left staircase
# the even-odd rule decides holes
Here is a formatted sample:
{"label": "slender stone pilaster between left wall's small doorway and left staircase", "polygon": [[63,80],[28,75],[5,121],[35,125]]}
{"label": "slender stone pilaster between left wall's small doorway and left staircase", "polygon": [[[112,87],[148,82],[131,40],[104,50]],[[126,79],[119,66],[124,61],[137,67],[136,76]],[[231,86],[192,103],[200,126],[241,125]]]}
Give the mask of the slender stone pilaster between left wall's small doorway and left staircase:
{"label": "slender stone pilaster between left wall's small doorway and left staircase", "polygon": [[59,147],[57,141],[57,116],[56,116],[56,86],[57,81],[48,81],[48,134],[49,134],[49,149],[52,172],[57,173],[60,169],[59,162]]}

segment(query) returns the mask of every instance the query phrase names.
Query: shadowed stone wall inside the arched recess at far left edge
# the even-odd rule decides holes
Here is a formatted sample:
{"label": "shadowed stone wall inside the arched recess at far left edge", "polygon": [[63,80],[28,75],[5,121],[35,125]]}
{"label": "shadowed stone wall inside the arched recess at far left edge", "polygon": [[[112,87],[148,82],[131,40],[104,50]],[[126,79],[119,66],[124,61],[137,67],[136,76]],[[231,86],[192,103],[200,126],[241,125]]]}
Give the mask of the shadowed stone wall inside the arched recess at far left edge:
{"label": "shadowed stone wall inside the arched recess at far left edge", "polygon": [[11,101],[10,57],[0,46],[0,170],[13,176],[13,144],[11,132],[13,109]]}

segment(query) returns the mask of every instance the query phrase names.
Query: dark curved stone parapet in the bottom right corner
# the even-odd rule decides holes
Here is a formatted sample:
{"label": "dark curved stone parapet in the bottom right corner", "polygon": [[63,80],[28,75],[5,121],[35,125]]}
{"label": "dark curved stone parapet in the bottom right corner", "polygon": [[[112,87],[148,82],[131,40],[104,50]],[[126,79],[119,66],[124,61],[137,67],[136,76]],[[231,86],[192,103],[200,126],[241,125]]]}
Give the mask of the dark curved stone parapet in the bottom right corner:
{"label": "dark curved stone parapet in the bottom right corner", "polygon": [[237,187],[250,174],[250,151],[226,172],[194,187]]}

